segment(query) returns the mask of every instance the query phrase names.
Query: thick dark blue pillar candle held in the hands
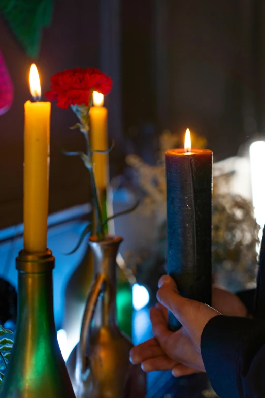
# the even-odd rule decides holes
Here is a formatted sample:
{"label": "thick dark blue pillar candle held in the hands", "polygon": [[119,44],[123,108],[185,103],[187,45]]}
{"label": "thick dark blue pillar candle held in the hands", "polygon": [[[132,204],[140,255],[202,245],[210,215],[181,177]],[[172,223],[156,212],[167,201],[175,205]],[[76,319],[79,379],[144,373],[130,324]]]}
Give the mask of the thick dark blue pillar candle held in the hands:
{"label": "thick dark blue pillar candle held in the hands", "polygon": [[[184,297],[211,304],[212,151],[165,152],[168,274]],[[171,330],[180,323],[169,314]]]}

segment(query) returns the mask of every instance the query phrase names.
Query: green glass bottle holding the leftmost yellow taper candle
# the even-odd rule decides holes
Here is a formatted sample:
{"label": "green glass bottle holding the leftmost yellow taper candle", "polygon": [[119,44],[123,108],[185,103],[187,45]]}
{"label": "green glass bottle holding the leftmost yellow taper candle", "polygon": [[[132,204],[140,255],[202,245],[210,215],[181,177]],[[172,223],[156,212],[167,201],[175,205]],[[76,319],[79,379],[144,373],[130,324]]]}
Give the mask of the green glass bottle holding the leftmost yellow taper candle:
{"label": "green glass bottle holding the leftmost yellow taper candle", "polygon": [[1,398],[75,398],[55,329],[54,263],[49,249],[16,259],[18,318]]}

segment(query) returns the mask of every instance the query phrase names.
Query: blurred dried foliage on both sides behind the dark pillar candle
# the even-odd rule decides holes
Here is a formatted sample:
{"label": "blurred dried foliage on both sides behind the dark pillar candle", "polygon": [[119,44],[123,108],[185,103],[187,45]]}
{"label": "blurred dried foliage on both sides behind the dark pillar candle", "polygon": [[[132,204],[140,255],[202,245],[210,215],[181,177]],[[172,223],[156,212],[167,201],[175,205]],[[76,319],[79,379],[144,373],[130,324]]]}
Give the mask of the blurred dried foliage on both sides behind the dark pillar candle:
{"label": "blurred dried foliage on both sides behind the dark pillar candle", "polygon": [[[206,146],[204,137],[195,133],[191,135],[194,147]],[[134,170],[138,186],[143,191],[143,223],[145,216],[151,213],[157,225],[157,238],[153,248],[130,253],[126,261],[135,268],[139,282],[154,290],[158,278],[165,272],[167,251],[164,152],[183,147],[183,142],[184,137],[166,130],[160,137],[160,151],[155,166],[148,165],[136,155],[128,155],[126,158],[127,164]],[[236,291],[254,284],[260,226],[254,217],[251,201],[230,193],[230,177],[229,174],[221,175],[213,181],[213,276],[216,283]]]}

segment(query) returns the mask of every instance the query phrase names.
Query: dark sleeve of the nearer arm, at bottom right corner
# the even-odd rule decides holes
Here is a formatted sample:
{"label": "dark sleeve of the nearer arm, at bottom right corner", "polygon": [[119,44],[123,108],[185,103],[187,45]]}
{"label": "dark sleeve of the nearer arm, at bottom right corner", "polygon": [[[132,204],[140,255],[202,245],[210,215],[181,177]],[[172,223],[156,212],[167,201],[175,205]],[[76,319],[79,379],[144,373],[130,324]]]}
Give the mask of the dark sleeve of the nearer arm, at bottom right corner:
{"label": "dark sleeve of the nearer arm, at bottom right corner", "polygon": [[218,315],[205,326],[201,352],[220,398],[264,398],[265,320]]}

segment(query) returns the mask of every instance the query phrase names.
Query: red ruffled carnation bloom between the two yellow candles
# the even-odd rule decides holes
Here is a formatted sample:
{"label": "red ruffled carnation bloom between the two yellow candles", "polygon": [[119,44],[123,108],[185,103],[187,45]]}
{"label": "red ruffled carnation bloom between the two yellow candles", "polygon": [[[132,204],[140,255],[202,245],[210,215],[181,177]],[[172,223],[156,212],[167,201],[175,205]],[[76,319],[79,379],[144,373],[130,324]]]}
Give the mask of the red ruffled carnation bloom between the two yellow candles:
{"label": "red ruffled carnation bloom between the two yellow candles", "polygon": [[47,91],[45,96],[50,101],[57,101],[57,106],[63,109],[70,105],[89,106],[93,91],[106,95],[112,87],[111,78],[95,68],[67,69],[53,75],[51,83],[51,91]]}

